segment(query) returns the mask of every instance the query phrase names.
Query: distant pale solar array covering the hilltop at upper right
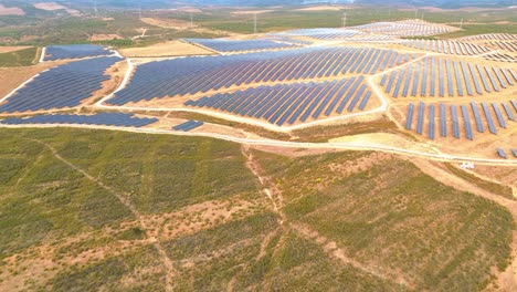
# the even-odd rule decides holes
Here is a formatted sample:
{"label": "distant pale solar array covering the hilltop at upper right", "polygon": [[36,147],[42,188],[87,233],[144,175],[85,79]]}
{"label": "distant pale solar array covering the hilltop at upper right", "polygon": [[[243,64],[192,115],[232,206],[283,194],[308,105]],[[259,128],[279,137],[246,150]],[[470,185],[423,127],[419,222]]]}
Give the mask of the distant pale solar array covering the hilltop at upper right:
{"label": "distant pale solar array covering the hilltop at upper right", "polygon": [[349,29],[393,36],[424,36],[451,32],[454,28],[435,25],[419,20],[374,22]]}

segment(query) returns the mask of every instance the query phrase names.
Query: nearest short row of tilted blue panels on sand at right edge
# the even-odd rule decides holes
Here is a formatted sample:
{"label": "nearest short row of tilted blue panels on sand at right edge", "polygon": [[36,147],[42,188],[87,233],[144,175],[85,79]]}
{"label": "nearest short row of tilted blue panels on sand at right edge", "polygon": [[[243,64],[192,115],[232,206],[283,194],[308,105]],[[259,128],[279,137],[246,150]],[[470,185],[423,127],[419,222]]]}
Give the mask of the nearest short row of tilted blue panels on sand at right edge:
{"label": "nearest short row of tilted blue panels on sand at right edge", "polygon": [[[486,103],[481,103],[481,108],[483,109],[483,113],[484,113],[484,118],[483,118],[477,104],[474,102],[471,102],[469,105],[460,105],[460,106],[456,106],[454,104],[452,105],[432,104],[428,106],[423,102],[420,102],[418,104],[416,113],[415,113],[416,106],[411,103],[408,106],[408,114],[405,117],[407,118],[405,129],[408,131],[413,129],[414,119],[416,119],[416,126],[415,126],[416,134],[422,135],[424,132],[424,124],[428,124],[428,137],[430,139],[434,139],[435,134],[436,134],[435,123],[439,122],[440,123],[439,132],[442,137],[447,137],[449,135],[447,132],[450,128],[452,128],[452,136],[455,138],[460,138],[461,136],[460,135],[460,132],[461,132],[460,116],[458,116],[458,108],[460,108],[462,119],[463,119],[464,134],[467,139],[471,139],[471,140],[474,139],[473,126],[471,124],[471,113],[472,113],[472,116],[474,117],[474,125],[478,133],[485,133],[485,125],[486,125],[488,126],[488,131],[492,134],[497,135],[497,126],[494,123],[493,114],[495,114],[498,126],[502,128],[507,127],[506,119],[510,122],[515,122],[516,114],[517,114],[516,101],[510,101],[509,103],[502,103],[500,105],[503,106],[506,117],[503,114],[498,104],[492,103],[490,106],[488,106]],[[425,115],[425,108],[428,108],[428,115]],[[436,115],[435,115],[436,112],[440,112],[437,121],[436,121]],[[483,119],[485,119],[486,123],[484,123]]]}

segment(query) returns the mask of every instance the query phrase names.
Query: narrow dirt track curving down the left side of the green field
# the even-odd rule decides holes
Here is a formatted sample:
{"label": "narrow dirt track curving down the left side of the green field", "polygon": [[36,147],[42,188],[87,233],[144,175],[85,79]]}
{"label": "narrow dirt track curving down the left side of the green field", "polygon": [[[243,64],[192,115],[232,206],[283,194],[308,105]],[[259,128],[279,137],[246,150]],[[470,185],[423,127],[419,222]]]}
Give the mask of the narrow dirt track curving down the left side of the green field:
{"label": "narrow dirt track curving down the left side of the green field", "polygon": [[133,216],[135,218],[138,219],[139,223],[140,223],[140,227],[146,230],[146,234],[147,237],[152,241],[152,246],[155,247],[155,249],[158,251],[158,253],[160,254],[160,259],[161,261],[163,262],[163,267],[166,268],[166,291],[173,291],[172,289],[172,278],[175,277],[176,274],[176,269],[172,264],[172,261],[170,260],[170,258],[167,255],[163,247],[160,244],[160,242],[150,236],[150,232],[149,232],[149,228],[147,227],[147,225],[145,223],[145,220],[144,220],[144,216],[140,215],[140,212],[135,208],[135,206],[126,198],[126,196],[124,196],[123,194],[118,192],[117,190],[115,190],[114,188],[109,187],[109,186],[106,186],[104,182],[102,182],[101,180],[96,179],[95,177],[91,176],[89,174],[87,174],[86,171],[84,171],[83,169],[78,168],[77,166],[75,166],[74,164],[72,164],[71,161],[66,160],[65,158],[63,158],[59,153],[57,150],[52,147],[51,145],[42,142],[42,140],[39,140],[39,139],[32,139],[32,138],[27,138],[27,137],[20,137],[20,138],[23,138],[23,139],[28,139],[28,140],[32,140],[32,142],[35,142],[35,143],[39,143],[43,146],[45,146],[49,150],[51,150],[52,155],[59,159],[60,161],[64,163],[65,165],[67,165],[68,167],[71,167],[72,169],[81,173],[84,177],[86,177],[87,179],[92,180],[93,182],[97,184],[99,187],[102,187],[103,189],[107,190],[108,192],[113,194],[115,197],[117,197],[117,199],[133,213]]}

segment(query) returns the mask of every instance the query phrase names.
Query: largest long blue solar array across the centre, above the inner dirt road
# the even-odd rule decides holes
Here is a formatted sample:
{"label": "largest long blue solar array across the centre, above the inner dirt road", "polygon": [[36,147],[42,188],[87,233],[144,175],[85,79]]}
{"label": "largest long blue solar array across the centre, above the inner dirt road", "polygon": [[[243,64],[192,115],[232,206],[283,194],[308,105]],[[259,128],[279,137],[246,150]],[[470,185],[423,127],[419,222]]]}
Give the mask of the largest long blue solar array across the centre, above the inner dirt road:
{"label": "largest long blue solar array across the centre, above the inner dirt road", "polygon": [[373,74],[409,61],[391,50],[309,48],[224,56],[183,58],[136,67],[129,84],[107,101],[123,105],[165,96],[192,95],[254,83]]}

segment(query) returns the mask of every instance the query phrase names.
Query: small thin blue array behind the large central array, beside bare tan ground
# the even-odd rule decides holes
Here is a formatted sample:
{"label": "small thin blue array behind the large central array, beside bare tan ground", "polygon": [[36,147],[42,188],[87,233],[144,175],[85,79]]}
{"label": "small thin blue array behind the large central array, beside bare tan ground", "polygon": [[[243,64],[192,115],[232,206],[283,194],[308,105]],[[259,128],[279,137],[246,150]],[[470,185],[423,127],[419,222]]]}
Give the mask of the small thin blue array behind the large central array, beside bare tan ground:
{"label": "small thin blue array behind the large central array, beside bare tan ground", "polygon": [[218,52],[246,52],[298,48],[297,44],[272,40],[223,40],[223,39],[183,39]]}

